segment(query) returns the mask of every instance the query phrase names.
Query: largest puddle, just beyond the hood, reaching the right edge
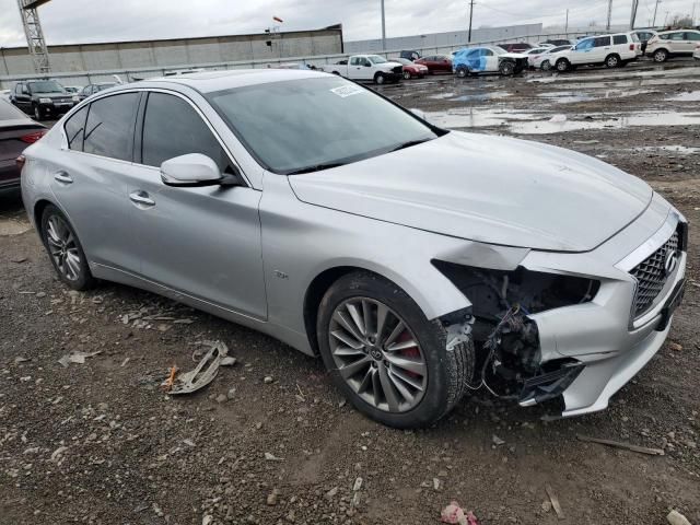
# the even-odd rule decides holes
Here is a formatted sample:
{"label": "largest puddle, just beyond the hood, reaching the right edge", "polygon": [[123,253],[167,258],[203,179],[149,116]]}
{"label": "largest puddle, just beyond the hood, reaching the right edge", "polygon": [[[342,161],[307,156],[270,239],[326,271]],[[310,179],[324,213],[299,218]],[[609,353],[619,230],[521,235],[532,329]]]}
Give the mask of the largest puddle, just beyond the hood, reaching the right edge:
{"label": "largest puddle, just beyond the hood, reaching the right edge", "polygon": [[[444,128],[485,128],[509,126],[510,131],[522,135],[548,135],[582,129],[621,129],[633,126],[691,126],[700,125],[700,113],[642,112],[634,115],[590,114],[586,120],[568,118],[564,121],[541,120],[542,114],[518,113],[483,107],[429,112],[429,121]],[[576,115],[574,115],[575,117]],[[579,116],[582,117],[582,116]],[[549,117],[548,117],[549,118]]]}

